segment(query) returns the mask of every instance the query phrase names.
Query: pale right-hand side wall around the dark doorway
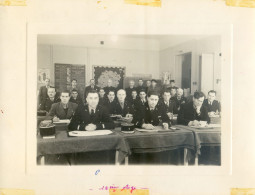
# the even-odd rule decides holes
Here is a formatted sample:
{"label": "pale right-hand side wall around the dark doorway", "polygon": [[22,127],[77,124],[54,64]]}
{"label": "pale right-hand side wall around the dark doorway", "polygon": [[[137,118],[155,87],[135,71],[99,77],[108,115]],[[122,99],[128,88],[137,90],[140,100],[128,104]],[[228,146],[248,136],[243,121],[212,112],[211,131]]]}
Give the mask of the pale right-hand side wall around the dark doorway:
{"label": "pale right-hand side wall around the dark doorway", "polygon": [[[191,59],[191,93],[194,93],[199,89],[199,56],[202,53],[214,53],[215,54],[215,64],[214,64],[214,75],[215,75],[215,90],[220,91],[220,83],[216,83],[216,79],[221,79],[220,71],[220,36],[210,36],[200,40],[191,40],[189,42],[171,47],[160,51],[160,69],[164,71],[169,71],[171,73],[171,78],[176,79],[175,73],[175,60],[176,55],[183,53],[192,52]],[[197,84],[194,85],[193,82]],[[218,94],[220,98],[220,93]]]}

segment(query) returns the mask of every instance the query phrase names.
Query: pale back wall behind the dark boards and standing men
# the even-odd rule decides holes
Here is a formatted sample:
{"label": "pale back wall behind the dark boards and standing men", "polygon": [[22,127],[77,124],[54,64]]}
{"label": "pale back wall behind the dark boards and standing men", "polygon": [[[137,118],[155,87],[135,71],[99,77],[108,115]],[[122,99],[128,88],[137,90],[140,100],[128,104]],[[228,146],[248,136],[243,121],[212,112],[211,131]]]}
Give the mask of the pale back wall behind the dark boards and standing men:
{"label": "pale back wall behind the dark boards and standing men", "polygon": [[133,73],[152,74],[156,79],[160,76],[157,51],[38,45],[37,59],[38,68],[50,69],[52,85],[55,63],[85,64],[87,84],[93,75],[93,65],[123,66],[126,67],[126,76],[132,76]]}

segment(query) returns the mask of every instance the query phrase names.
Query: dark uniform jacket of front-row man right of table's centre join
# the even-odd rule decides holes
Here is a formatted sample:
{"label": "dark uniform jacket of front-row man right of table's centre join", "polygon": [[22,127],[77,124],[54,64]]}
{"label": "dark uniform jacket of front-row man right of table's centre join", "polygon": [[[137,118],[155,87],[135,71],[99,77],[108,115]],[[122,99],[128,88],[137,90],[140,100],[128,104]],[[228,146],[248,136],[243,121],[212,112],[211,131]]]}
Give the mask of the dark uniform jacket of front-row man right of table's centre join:
{"label": "dark uniform jacket of front-row man right of table's centre join", "polygon": [[156,106],[154,111],[151,111],[148,102],[146,102],[144,106],[139,107],[134,116],[132,123],[138,128],[141,128],[144,123],[152,124],[153,126],[161,125],[161,123],[168,123],[169,127],[171,126],[170,119],[164,109],[160,106]]}

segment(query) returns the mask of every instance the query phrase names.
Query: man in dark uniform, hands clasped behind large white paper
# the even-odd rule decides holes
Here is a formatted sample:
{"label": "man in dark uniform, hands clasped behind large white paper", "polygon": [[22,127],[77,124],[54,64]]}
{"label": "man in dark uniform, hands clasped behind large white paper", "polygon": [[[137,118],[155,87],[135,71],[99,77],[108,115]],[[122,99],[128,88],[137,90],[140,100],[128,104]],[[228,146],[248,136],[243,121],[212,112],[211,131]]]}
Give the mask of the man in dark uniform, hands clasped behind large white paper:
{"label": "man in dark uniform, hands clasped behind large white paper", "polygon": [[87,105],[81,106],[75,112],[68,129],[94,131],[101,129],[114,129],[114,122],[107,109],[99,103],[96,90],[91,90],[87,95]]}

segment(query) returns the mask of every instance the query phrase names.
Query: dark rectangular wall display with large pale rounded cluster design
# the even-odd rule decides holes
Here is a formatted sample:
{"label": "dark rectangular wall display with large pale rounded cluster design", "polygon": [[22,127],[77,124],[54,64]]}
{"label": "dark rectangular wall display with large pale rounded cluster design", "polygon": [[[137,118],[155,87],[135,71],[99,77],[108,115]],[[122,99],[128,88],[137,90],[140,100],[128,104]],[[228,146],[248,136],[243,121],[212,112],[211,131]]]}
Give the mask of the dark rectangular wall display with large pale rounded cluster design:
{"label": "dark rectangular wall display with large pale rounded cluster design", "polygon": [[109,79],[113,87],[122,88],[126,75],[126,67],[121,66],[93,66],[93,78],[99,87],[106,87]]}

